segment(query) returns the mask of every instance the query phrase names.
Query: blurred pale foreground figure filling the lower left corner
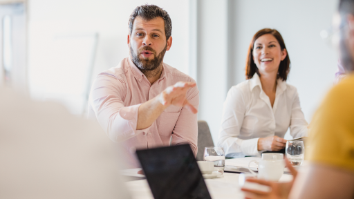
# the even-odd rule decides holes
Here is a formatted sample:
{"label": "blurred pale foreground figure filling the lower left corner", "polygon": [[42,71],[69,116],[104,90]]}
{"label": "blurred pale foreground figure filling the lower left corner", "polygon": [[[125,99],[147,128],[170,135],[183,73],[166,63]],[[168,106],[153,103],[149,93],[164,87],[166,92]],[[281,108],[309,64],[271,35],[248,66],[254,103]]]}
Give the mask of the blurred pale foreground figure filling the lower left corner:
{"label": "blurred pale foreground figure filling the lower left corner", "polygon": [[130,198],[97,122],[0,85],[0,198]]}

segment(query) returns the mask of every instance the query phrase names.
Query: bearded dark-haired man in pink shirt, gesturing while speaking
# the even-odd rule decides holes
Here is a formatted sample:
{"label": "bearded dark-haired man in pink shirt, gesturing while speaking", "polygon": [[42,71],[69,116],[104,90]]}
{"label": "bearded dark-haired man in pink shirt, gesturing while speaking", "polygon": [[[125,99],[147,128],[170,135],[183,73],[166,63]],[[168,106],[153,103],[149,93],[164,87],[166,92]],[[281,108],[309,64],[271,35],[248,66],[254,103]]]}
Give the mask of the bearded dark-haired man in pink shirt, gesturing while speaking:
{"label": "bearded dark-haired man in pink shirt, gesturing while speaking", "polygon": [[165,10],[138,6],[129,18],[130,56],[91,88],[91,113],[111,140],[122,141],[129,168],[140,167],[136,149],[189,144],[196,155],[199,91],[194,79],[163,63],[171,30]]}

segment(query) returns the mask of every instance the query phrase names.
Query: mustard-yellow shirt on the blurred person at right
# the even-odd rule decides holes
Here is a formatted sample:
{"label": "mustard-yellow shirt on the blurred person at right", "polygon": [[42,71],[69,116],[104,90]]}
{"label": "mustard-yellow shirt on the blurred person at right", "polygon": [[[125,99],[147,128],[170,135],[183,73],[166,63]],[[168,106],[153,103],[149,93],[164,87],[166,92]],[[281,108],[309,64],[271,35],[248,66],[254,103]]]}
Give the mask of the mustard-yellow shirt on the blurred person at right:
{"label": "mustard-yellow shirt on the blurred person at right", "polygon": [[330,90],[309,136],[307,160],[354,171],[354,74]]}

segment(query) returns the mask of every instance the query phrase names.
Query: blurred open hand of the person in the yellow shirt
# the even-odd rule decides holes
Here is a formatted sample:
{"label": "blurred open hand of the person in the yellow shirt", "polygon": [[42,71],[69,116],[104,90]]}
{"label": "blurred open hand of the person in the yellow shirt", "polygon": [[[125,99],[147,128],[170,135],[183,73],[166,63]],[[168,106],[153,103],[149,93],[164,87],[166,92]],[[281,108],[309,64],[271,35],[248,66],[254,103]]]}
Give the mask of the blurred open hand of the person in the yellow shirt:
{"label": "blurred open hand of the person in the yellow shirt", "polygon": [[254,189],[245,189],[242,188],[241,191],[244,191],[245,198],[248,199],[285,199],[288,198],[292,184],[294,184],[294,180],[297,176],[297,171],[292,167],[291,163],[288,159],[285,160],[286,167],[290,170],[293,178],[290,182],[270,182],[266,180],[259,180],[257,178],[248,178],[246,181],[254,182],[258,184],[263,184],[265,186],[269,186],[271,188],[270,192],[265,191],[257,191]]}

